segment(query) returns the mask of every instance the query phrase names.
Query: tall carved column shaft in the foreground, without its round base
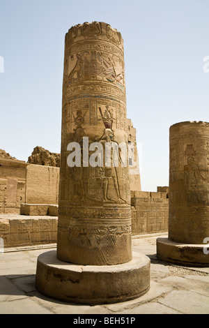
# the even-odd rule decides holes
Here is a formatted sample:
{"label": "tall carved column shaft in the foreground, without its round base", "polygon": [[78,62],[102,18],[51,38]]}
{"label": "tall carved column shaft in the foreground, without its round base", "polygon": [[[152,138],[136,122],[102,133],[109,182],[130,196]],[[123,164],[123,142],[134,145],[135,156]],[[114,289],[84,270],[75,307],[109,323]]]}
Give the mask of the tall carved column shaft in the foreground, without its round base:
{"label": "tall carved column shaft in the foreground, without its round base", "polygon": [[[127,146],[123,39],[109,24],[72,27],[65,36],[57,257],[75,264],[132,259],[128,163],[93,167],[93,142]],[[77,142],[81,165],[70,167]],[[88,155],[83,150],[88,148]],[[72,150],[72,149],[71,149]],[[87,157],[86,157],[87,156]],[[88,163],[87,163],[88,162]]]}

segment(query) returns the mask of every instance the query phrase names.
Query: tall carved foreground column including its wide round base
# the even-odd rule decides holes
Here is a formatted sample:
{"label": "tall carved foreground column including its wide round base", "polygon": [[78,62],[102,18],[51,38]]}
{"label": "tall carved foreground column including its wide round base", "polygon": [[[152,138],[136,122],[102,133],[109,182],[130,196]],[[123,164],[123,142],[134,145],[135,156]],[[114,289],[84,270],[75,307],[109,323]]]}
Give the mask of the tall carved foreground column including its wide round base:
{"label": "tall carved foreground column including its wide round base", "polygon": [[38,259],[36,286],[79,303],[143,295],[150,260],[132,253],[123,38],[109,24],[66,34],[62,107],[56,260]]}

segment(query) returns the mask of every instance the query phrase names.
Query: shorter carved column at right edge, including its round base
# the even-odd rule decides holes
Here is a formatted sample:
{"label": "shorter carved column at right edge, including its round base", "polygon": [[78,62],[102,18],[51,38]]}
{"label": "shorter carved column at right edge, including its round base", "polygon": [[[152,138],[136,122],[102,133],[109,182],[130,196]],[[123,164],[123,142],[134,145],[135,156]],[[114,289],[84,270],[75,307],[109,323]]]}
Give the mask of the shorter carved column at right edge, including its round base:
{"label": "shorter carved column at right edge, including its round base", "polygon": [[[159,258],[208,266],[209,123],[181,122],[170,128],[169,239],[157,240]],[[208,238],[209,240],[209,238]]]}

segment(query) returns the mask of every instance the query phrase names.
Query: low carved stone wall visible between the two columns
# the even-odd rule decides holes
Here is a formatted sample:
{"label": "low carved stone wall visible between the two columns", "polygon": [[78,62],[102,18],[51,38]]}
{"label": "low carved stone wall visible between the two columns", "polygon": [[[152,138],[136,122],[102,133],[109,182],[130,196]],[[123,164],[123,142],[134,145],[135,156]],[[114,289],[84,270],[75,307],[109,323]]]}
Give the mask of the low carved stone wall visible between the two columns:
{"label": "low carved stone wall visible between the two columns", "polygon": [[167,192],[132,192],[132,235],[168,231]]}

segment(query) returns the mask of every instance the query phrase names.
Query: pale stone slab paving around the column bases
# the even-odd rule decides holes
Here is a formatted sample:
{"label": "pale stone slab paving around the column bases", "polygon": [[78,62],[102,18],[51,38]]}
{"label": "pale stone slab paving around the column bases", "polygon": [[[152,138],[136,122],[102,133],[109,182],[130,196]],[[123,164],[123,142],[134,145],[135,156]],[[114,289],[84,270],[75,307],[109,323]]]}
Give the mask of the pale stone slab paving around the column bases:
{"label": "pale stone slab paving around the column bases", "polygon": [[[134,237],[132,250],[151,261],[150,290],[117,304],[86,306],[64,303],[35,288],[38,255],[56,244],[8,248],[0,253],[0,314],[209,314],[209,268],[181,267],[157,260],[156,239],[167,234]],[[208,255],[209,256],[209,255]]]}

